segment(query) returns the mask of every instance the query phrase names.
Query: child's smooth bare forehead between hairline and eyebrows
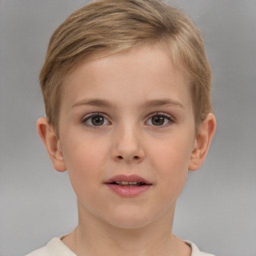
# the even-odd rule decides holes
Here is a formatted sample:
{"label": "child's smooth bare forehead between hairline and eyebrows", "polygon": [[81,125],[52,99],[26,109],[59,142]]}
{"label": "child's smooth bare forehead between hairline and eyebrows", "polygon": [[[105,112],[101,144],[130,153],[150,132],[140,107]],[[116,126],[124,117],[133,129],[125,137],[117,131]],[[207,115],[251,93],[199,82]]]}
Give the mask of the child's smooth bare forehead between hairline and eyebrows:
{"label": "child's smooth bare forehead between hairline and eyebrows", "polygon": [[[122,102],[170,96],[188,102],[189,89],[180,64],[159,45],[143,45],[126,52],[94,55],[79,64],[63,81],[64,102],[75,103],[84,97],[108,97]],[[76,93],[77,92],[77,93]],[[187,101],[187,102],[186,102]]]}

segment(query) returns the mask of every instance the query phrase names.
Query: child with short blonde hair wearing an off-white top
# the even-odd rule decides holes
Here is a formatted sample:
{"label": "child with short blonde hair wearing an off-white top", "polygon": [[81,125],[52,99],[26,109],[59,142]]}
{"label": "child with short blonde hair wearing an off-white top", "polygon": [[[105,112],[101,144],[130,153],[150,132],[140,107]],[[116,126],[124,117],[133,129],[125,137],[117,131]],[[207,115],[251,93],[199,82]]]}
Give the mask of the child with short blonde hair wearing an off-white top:
{"label": "child with short blonde hair wearing an off-white top", "polygon": [[29,256],[203,256],[172,233],[188,170],[215,130],[200,33],[158,0],[98,0],[53,33],[38,133],[68,171],[78,225]]}

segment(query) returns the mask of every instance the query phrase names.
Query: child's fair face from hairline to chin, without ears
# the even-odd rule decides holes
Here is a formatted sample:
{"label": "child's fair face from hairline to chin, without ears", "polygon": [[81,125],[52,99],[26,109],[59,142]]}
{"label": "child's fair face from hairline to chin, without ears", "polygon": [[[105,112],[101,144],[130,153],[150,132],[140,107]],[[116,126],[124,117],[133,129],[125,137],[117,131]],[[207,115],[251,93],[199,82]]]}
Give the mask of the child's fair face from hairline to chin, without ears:
{"label": "child's fair face from hairline to chin, without ears", "polygon": [[188,82],[157,46],[64,79],[59,141],[79,214],[141,227],[174,212],[195,141]]}

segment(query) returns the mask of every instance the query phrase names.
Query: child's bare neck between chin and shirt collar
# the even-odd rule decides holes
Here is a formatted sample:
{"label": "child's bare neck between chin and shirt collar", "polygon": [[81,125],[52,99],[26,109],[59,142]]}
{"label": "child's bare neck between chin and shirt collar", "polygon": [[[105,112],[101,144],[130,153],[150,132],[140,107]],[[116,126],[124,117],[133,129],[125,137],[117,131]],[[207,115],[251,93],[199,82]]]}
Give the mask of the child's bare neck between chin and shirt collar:
{"label": "child's bare neck between chin and shirt collar", "polygon": [[138,228],[116,227],[90,212],[84,216],[79,205],[78,214],[77,227],[62,240],[77,256],[190,255],[190,247],[172,234],[174,210]]}

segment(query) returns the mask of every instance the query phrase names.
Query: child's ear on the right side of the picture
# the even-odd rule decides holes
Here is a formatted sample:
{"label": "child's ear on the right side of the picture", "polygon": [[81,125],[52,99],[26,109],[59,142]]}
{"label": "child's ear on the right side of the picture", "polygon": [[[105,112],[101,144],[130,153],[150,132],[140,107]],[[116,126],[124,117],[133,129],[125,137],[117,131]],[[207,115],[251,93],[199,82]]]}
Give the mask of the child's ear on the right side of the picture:
{"label": "child's ear on the right side of the picture", "polygon": [[192,153],[190,155],[189,170],[197,170],[203,163],[208,152],[210,141],[216,129],[216,119],[212,113],[208,113],[200,124],[198,133],[194,140]]}

